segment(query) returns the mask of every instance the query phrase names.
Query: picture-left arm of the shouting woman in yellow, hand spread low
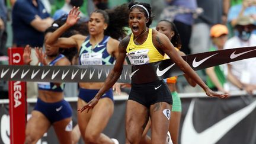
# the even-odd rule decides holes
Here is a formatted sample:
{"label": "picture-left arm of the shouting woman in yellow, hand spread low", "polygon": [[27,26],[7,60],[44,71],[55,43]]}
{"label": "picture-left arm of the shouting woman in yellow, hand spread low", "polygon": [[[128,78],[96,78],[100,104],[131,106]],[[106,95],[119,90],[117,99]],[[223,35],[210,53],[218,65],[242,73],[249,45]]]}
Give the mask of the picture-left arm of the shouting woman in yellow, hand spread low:
{"label": "picture-left arm of the shouting woman in yellow, hand spread low", "polygon": [[116,81],[120,78],[121,72],[123,71],[123,63],[124,59],[126,57],[126,47],[129,43],[130,37],[125,37],[123,40],[120,41],[119,44],[119,56],[117,57],[116,63],[114,65],[114,68],[111,70],[110,74],[107,76],[107,79],[104,82],[103,87],[101,87],[100,91],[95,95],[95,97],[89,101],[87,105],[80,108],[78,111],[84,111],[87,109],[93,108],[97,103],[98,100],[100,100],[101,96],[113,85],[116,83]]}

